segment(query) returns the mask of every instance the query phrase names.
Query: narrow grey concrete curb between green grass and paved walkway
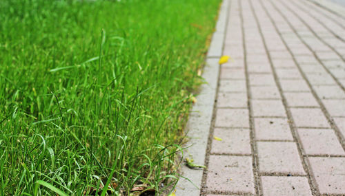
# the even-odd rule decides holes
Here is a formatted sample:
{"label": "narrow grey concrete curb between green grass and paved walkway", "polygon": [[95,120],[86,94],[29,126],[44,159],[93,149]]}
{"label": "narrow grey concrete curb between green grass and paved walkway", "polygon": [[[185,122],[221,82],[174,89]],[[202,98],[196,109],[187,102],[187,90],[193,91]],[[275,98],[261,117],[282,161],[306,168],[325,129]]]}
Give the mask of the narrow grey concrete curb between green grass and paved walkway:
{"label": "narrow grey concrete curb between green grass and paved walkway", "polygon": [[[183,158],[192,157],[196,164],[204,164],[205,162],[208,135],[210,133],[217,91],[217,80],[219,75],[218,61],[223,52],[229,6],[229,0],[223,0],[219,11],[216,30],[213,33],[212,41],[206,56],[206,66],[202,74],[206,83],[201,85],[200,94],[197,96],[197,102],[193,106],[185,128],[186,136],[190,139],[186,146],[190,147],[184,151]],[[203,169],[190,169],[185,164],[181,164],[181,175],[183,177],[180,177],[177,183],[176,195],[200,195],[203,173]],[[188,179],[193,182],[193,184],[189,182]],[[195,187],[195,185],[197,187]]]}

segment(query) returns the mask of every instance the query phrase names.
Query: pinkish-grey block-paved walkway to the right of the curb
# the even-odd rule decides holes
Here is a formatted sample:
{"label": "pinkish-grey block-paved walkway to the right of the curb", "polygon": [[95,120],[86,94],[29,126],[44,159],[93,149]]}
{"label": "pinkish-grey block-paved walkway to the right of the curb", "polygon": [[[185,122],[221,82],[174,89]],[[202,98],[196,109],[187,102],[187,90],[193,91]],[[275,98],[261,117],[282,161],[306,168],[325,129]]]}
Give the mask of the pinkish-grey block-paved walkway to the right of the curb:
{"label": "pinkish-grey block-paved walkway to the right of the curb", "polygon": [[345,195],[345,17],[229,3],[201,195]]}

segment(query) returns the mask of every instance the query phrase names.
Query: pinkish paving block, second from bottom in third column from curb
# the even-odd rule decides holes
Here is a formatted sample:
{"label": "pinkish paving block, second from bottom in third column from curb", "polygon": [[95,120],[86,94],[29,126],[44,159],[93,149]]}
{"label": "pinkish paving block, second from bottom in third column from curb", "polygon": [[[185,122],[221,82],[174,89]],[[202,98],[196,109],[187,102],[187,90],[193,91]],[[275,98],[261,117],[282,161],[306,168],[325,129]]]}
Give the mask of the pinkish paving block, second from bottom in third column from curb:
{"label": "pinkish paving block, second from bottom in third column from curb", "polygon": [[306,155],[345,155],[333,129],[297,129],[297,132]]}

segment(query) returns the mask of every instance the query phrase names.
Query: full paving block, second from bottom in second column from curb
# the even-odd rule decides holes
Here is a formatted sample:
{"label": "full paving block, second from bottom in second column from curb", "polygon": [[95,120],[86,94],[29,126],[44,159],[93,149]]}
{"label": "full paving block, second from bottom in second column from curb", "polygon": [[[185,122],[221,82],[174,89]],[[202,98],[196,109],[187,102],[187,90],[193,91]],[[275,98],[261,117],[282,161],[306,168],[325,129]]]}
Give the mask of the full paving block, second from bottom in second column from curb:
{"label": "full paving block, second from bottom in second column from curb", "polygon": [[259,171],[306,175],[295,142],[257,142]]}

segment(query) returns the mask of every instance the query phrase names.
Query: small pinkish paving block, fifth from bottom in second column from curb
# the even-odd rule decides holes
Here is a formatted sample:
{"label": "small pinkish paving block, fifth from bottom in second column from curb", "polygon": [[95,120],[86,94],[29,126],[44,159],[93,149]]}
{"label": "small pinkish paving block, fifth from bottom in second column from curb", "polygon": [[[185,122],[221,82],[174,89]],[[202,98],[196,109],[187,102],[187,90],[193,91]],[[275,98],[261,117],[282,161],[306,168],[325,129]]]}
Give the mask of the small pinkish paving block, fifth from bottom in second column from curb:
{"label": "small pinkish paving block, fifth from bottom in second column from curb", "polygon": [[262,99],[262,98],[277,98],[280,99],[280,94],[275,86],[253,86],[250,87],[251,98]]}

